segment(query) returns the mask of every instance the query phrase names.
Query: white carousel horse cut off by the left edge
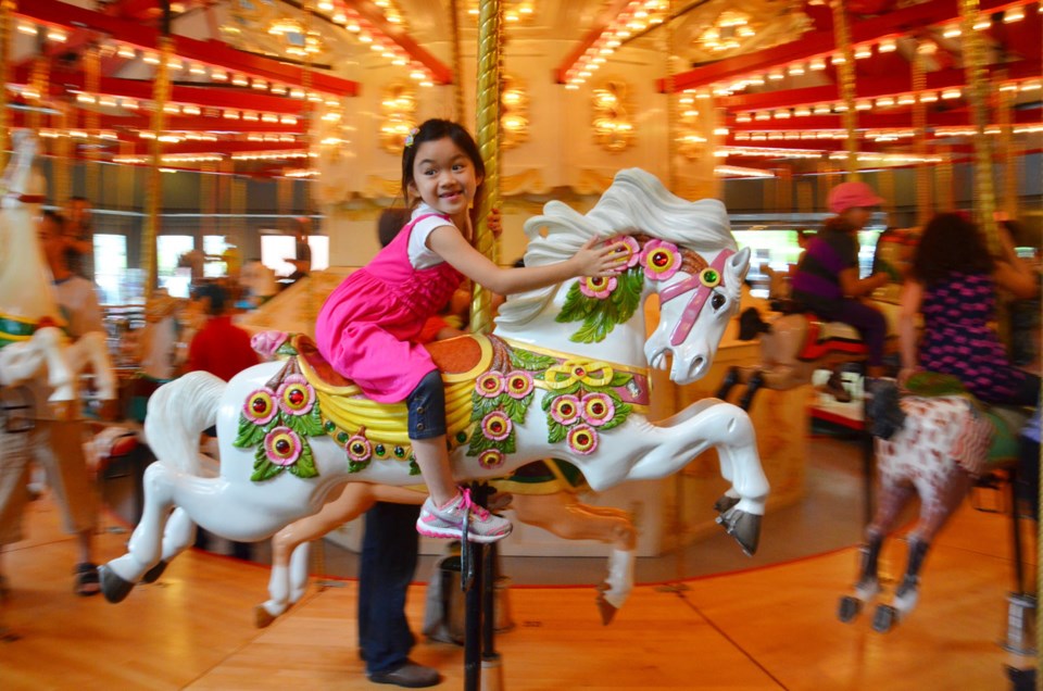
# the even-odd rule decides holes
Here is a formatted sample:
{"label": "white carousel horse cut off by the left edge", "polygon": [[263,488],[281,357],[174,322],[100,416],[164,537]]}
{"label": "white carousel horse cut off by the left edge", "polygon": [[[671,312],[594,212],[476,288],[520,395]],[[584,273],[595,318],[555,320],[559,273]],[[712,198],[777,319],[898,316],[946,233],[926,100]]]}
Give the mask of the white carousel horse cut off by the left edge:
{"label": "white carousel horse cut off by the left edge", "polygon": [[36,233],[46,183],[36,169],[36,139],[15,133],[14,155],[4,171],[0,212],[0,384],[13,386],[47,374],[49,401],[64,407],[78,399],[78,375],[89,365],[98,398],[116,398],[105,335],[86,334],[70,343]]}

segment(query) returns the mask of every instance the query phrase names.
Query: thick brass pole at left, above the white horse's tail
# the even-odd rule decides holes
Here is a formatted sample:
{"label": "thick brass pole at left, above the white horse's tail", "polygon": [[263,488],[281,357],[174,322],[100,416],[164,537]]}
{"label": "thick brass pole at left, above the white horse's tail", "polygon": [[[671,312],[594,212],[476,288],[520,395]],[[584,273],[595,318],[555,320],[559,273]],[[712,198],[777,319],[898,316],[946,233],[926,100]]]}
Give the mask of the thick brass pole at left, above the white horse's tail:
{"label": "thick brass pole at left, above the white horse's tail", "polygon": [[152,139],[149,142],[150,159],[148,181],[144,186],[144,228],[141,233],[141,271],[144,273],[146,296],[152,293],[159,285],[156,264],[156,237],[160,233],[160,206],[163,201],[163,142],[160,137],[166,124],[163,109],[171,98],[171,72],[167,64],[174,52],[174,40],[168,35],[169,3],[164,2],[163,36],[160,38],[160,62],[155,66],[155,80],[152,83]]}

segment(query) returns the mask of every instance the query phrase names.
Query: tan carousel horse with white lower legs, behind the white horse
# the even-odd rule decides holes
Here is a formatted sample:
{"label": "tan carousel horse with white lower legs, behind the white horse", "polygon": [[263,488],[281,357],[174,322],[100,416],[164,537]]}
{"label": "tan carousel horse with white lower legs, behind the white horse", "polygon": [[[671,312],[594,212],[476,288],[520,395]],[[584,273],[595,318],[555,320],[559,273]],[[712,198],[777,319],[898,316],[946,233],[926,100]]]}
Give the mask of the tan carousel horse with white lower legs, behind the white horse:
{"label": "tan carousel horse with white lower legs, behind the white horse", "polygon": [[[543,462],[556,464],[556,461]],[[524,466],[523,470],[531,466]],[[513,478],[514,476],[512,476]],[[522,489],[519,482],[492,480],[492,486],[511,489],[510,507],[522,523],[543,528],[564,540],[598,540],[613,545],[608,576],[598,588],[595,603],[602,623],[610,624],[633,590],[633,558],[637,528],[621,508],[592,506],[579,501],[575,490],[548,489],[537,480],[536,491]],[[254,608],[259,628],[271,625],[304,596],[309,581],[309,544],[349,520],[367,512],[376,502],[420,505],[427,492],[420,489],[349,482],[341,494],[312,516],[294,520],[272,539],[272,576],[268,600]],[[158,577],[153,571],[150,577]]]}

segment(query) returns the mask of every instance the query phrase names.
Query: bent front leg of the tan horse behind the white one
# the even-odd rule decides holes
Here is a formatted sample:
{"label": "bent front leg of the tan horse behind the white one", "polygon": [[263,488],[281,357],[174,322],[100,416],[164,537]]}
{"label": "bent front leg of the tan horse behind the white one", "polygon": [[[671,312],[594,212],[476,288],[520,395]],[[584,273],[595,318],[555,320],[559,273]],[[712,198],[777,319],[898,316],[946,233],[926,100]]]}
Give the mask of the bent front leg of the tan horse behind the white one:
{"label": "bent front leg of the tan horse behind the white one", "polygon": [[571,492],[514,494],[511,502],[518,520],[538,526],[565,540],[598,540],[615,549],[608,557],[608,576],[598,587],[598,611],[604,625],[612,623],[633,590],[638,531],[627,512],[590,506]]}

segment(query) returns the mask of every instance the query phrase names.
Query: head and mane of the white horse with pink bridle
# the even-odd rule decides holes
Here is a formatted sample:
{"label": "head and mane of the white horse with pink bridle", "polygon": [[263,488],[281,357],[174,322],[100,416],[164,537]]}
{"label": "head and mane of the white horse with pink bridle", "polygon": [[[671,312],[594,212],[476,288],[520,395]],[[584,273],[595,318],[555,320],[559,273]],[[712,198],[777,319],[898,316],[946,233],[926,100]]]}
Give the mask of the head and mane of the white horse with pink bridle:
{"label": "head and mane of the white horse with pink bridle", "polygon": [[[750,264],[749,249],[737,251],[721,202],[680,199],[655,176],[631,168],[616,175],[587,214],[552,201],[525,224],[525,231],[526,266],[567,259],[591,237],[621,241],[630,256],[617,276],[579,278],[567,291],[551,287],[510,298],[497,319],[498,334],[531,318],[556,296],[554,322],[583,323],[569,341],[612,351],[617,348],[614,329],[623,326],[639,339],[637,355],[643,364],[666,369],[671,356],[675,382],[689,384],[709,370]],[[658,296],[659,323],[645,341],[638,307],[652,293]],[[605,356],[634,364],[627,346],[618,348]]]}

